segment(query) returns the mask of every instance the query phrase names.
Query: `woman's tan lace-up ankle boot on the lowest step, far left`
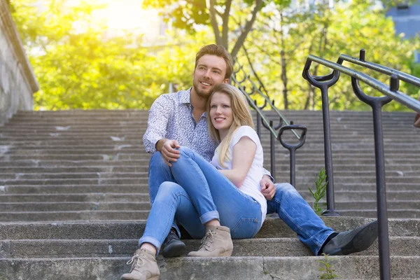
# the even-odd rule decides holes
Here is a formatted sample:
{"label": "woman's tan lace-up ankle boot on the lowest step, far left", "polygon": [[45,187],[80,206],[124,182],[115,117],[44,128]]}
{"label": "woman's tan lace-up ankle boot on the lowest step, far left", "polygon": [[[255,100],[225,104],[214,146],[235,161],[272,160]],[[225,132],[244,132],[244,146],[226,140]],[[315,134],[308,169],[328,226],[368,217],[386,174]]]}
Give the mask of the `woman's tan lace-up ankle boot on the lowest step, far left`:
{"label": "woman's tan lace-up ankle boot on the lowest step, far left", "polygon": [[130,273],[123,274],[121,280],[159,280],[158,262],[153,253],[137,249],[127,265],[132,265]]}

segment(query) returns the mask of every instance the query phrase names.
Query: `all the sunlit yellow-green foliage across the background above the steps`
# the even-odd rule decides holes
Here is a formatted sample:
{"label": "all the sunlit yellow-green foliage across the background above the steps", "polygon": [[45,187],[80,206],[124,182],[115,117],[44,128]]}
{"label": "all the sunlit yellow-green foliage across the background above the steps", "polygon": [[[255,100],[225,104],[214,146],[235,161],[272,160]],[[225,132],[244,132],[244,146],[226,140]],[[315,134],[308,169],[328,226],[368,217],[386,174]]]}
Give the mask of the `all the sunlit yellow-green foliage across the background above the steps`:
{"label": "all the sunlit yellow-green foliage across the background above the steps", "polygon": [[[153,48],[144,47],[138,34],[107,36],[106,27],[92,21],[92,13],[104,7],[99,1],[66,6],[68,0],[45,0],[42,10],[36,6],[38,2],[10,0],[13,19],[41,86],[34,94],[35,109],[147,109],[158,95],[169,91],[169,83],[176,84],[178,90],[188,88],[195,53],[200,46],[215,42],[209,35],[214,34],[209,27],[209,1],[186,0],[183,5],[177,0],[144,0],[145,7],[162,9],[174,27],[188,31],[176,29],[167,34],[165,46]],[[420,39],[396,36],[384,8],[373,7],[374,1],[335,1],[334,8],[324,2],[328,1],[297,10],[290,0],[264,1],[246,37],[244,45],[254,68],[277,107],[283,107],[286,95],[288,109],[321,109],[321,93],[302,78],[309,54],[335,61],[340,53],[357,56],[359,49],[365,48],[368,61],[420,76],[419,64],[412,62]],[[227,22],[230,36],[225,38],[232,45],[251,17],[255,0],[215,0],[221,34],[221,15],[228,3],[232,3]],[[242,52],[237,57],[246,61]],[[344,66],[388,83],[388,76],[348,63]],[[311,66],[316,75],[329,71]],[[370,87],[363,89],[377,95]],[[418,87],[405,83],[400,90],[414,98],[420,94]],[[350,78],[344,74],[330,89],[329,97],[330,109],[370,109],[353,94]],[[384,109],[404,110],[405,106],[391,102]]]}

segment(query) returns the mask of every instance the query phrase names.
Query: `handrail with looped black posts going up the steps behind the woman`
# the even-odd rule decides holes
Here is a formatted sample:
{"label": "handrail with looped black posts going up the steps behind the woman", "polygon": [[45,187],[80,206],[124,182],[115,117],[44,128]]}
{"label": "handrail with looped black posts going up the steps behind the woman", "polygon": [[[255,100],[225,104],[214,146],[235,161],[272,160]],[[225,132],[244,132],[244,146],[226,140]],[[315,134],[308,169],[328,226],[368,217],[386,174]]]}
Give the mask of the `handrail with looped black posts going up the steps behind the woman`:
{"label": "handrail with looped black posts going up the steps behind the woman", "polygon": [[[306,140],[306,132],[307,128],[303,125],[293,125],[293,122],[289,122],[286,117],[279,111],[279,109],[274,106],[274,101],[270,101],[267,94],[261,92],[260,87],[257,87],[253,80],[247,75],[246,71],[244,71],[244,67],[235,60],[235,66],[238,66],[239,69],[234,69],[232,76],[230,77],[230,82],[233,83],[235,86],[244,93],[246,100],[248,101],[249,106],[257,113],[257,134],[260,137],[260,124],[264,126],[270,134],[270,161],[271,161],[271,174],[272,177],[275,179],[276,174],[276,160],[275,160],[275,139],[279,140],[283,147],[287,148],[290,152],[290,184],[295,186],[295,151],[297,148],[303,146],[304,141]],[[241,73],[242,79],[238,80],[237,74]],[[246,85],[244,83],[248,83],[251,85],[250,90],[246,90]],[[258,96],[264,99],[264,105],[258,106],[257,101],[251,97],[252,94],[258,94]],[[268,118],[263,113],[262,109],[265,106],[271,107],[272,111],[276,113],[279,117],[279,123],[274,125],[272,120],[268,120]],[[284,124],[284,126],[283,126]],[[279,130],[279,132],[276,132]],[[283,140],[283,132],[286,130],[291,130],[291,132],[295,135],[298,140],[297,145],[288,144],[286,141]],[[302,130],[302,133],[297,133],[298,130]]]}

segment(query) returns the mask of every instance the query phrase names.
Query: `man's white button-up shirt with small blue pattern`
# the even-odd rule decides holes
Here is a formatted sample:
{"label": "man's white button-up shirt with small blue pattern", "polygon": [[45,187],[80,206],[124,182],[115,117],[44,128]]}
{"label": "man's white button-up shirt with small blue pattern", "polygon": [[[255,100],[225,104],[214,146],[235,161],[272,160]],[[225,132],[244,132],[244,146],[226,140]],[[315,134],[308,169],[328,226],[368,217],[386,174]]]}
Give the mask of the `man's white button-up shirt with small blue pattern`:
{"label": "man's white button-up shirt with small blue pattern", "polygon": [[209,136],[206,112],[195,122],[190,91],[162,94],[153,102],[143,136],[144,148],[148,153],[155,153],[156,143],[160,139],[175,139],[181,146],[191,148],[208,162],[211,161],[218,142]]}

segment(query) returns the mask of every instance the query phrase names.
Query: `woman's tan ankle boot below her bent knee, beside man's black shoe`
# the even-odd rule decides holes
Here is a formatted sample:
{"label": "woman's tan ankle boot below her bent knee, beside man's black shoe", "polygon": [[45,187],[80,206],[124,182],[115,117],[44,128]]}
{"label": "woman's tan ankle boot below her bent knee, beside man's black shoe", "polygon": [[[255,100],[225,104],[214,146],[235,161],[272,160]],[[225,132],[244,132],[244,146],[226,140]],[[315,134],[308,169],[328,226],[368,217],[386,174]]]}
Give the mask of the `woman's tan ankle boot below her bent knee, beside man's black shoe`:
{"label": "woman's tan ankle boot below her bent knee, beside man's black shoe", "polygon": [[233,243],[230,230],[221,225],[206,227],[206,235],[198,251],[188,253],[190,257],[230,257]]}

